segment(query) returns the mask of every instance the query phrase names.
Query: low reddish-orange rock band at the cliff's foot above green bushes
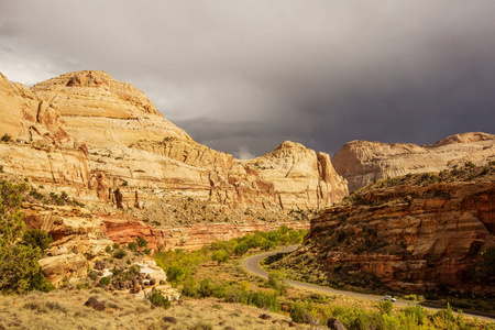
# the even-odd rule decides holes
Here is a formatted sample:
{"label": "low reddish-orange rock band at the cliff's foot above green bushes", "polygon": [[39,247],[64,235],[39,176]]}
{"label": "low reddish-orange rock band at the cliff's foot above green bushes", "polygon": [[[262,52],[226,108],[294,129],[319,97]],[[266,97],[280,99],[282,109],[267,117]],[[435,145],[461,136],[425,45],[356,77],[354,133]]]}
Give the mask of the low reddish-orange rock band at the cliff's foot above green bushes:
{"label": "low reddish-orange rock band at the cliff's foot above green bushes", "polygon": [[158,250],[182,249],[186,251],[198,250],[216,240],[228,241],[241,238],[248,233],[258,231],[272,231],[280,226],[293,229],[308,229],[307,222],[256,222],[244,224],[212,223],[193,224],[184,227],[161,227],[147,226],[142,221],[129,221],[108,218],[103,220],[103,233],[113,242],[127,244],[135,242],[138,238],[146,240],[147,248]]}

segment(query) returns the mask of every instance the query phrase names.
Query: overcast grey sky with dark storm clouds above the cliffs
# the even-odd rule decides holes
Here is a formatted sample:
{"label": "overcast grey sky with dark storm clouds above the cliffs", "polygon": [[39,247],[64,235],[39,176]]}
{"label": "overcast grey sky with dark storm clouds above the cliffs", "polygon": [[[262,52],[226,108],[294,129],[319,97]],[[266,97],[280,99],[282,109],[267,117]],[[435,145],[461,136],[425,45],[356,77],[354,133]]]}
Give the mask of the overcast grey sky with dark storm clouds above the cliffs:
{"label": "overcast grey sky with dark storm clouds above the cliffs", "polygon": [[0,0],[0,72],[106,70],[238,157],[495,133],[495,1]]}

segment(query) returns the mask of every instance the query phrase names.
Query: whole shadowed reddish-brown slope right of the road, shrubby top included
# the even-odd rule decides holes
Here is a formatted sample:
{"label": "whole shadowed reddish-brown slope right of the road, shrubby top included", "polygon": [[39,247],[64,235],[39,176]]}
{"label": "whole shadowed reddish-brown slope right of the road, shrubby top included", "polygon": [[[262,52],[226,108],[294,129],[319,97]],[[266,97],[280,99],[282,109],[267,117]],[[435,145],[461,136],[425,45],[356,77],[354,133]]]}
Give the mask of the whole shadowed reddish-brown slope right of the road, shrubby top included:
{"label": "whole shadowed reddish-brown slope right of the road, shrubby top included", "polygon": [[338,286],[370,288],[376,279],[405,292],[493,296],[485,258],[495,251],[494,178],[491,163],[378,182],[311,220],[305,246],[278,266]]}

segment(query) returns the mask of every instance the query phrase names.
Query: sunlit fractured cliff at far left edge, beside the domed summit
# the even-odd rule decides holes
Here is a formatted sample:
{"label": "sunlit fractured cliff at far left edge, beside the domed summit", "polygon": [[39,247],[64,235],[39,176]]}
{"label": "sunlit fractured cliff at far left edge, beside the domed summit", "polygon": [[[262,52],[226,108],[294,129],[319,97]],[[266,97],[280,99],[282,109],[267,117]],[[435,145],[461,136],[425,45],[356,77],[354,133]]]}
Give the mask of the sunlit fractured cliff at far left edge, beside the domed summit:
{"label": "sunlit fractured cliff at far left edge, beside the domed summit", "polygon": [[64,118],[28,87],[0,75],[0,143],[4,173],[86,189],[90,165],[85,144],[74,144]]}

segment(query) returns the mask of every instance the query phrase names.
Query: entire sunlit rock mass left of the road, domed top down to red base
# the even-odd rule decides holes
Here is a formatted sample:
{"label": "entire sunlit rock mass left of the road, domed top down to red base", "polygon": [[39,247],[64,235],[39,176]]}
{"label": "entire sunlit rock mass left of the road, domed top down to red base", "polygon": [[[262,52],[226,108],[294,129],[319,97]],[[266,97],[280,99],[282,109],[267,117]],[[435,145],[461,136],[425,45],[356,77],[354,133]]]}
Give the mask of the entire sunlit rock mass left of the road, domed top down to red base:
{"label": "entire sunlit rock mass left of the road, domed top down to red base", "polygon": [[[0,176],[29,183],[24,221],[54,238],[40,264],[56,286],[85,277],[116,242],[146,238],[152,249],[198,249],[275,229],[294,219],[292,210],[346,195],[328,155],[285,142],[266,156],[235,160],[196,143],[142,91],[102,72],[70,73],[32,89],[1,76],[0,113]],[[184,200],[167,221],[153,211]],[[209,223],[193,226],[207,213]],[[187,222],[178,227],[180,219]],[[300,220],[289,226],[308,226]]]}

